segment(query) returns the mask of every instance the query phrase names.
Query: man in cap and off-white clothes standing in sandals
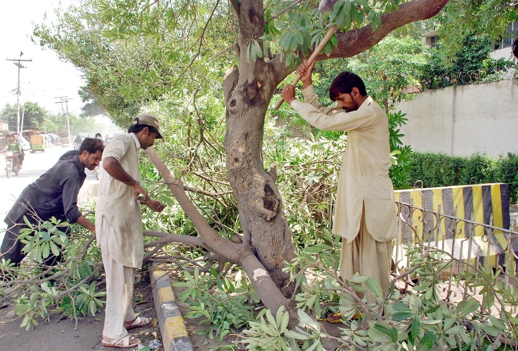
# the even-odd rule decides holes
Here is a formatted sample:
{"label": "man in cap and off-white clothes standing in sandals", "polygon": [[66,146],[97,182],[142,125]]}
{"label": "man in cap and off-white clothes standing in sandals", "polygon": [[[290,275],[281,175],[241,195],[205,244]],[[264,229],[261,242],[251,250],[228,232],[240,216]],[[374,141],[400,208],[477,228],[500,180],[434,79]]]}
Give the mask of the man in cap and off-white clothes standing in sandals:
{"label": "man in cap and off-white clothes standing in sandals", "polygon": [[[97,241],[106,272],[106,316],[102,344],[134,347],[140,340],[128,330],[151,323],[132,308],[135,269],[142,267],[143,239],[140,205],[155,212],[165,205],[149,198],[140,185],[140,149],[162,138],[159,121],[151,114],[138,115],[128,134],[118,134],[106,145],[95,210]],[[139,196],[141,194],[142,196]]]}

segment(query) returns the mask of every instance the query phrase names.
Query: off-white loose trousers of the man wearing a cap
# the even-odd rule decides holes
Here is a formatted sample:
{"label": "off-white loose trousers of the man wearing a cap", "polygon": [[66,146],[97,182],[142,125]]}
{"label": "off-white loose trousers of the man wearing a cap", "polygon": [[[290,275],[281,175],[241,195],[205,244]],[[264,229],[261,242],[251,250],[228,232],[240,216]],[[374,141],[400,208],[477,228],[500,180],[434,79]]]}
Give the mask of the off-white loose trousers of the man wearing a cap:
{"label": "off-white loose trousers of the man wearing a cap", "polygon": [[135,268],[123,266],[111,259],[108,247],[108,226],[109,223],[103,216],[100,232],[96,233],[106,272],[106,313],[103,336],[109,339],[122,339],[128,334],[124,328],[124,322],[137,317],[132,307]]}

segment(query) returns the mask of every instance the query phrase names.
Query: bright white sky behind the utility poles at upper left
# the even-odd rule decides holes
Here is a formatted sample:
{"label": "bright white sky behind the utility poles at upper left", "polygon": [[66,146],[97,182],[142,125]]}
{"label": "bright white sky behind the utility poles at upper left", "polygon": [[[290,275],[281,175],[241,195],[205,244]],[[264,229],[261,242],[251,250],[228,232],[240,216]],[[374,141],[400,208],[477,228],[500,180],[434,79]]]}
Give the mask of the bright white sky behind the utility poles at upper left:
{"label": "bright white sky behind the utility poles at upper left", "polygon": [[[57,96],[68,96],[68,111],[79,114],[81,99],[77,95],[79,87],[85,85],[81,72],[74,65],[62,62],[55,52],[43,49],[31,41],[33,23],[44,21],[44,13],[49,19],[57,6],[67,7],[74,0],[18,0],[2,1],[0,11],[0,109],[8,104],[16,104],[18,67],[6,58],[22,60],[20,70],[20,102],[35,101],[47,111],[61,113]],[[20,51],[23,55],[20,57]]]}

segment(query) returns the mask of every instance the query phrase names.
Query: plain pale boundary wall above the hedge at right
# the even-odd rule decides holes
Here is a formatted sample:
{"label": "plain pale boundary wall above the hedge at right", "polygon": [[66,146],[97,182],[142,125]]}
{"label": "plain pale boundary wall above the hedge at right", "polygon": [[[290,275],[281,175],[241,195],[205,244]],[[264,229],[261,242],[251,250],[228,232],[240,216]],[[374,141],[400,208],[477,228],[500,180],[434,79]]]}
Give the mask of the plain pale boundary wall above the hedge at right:
{"label": "plain pale boundary wall above the hedge at right", "polygon": [[403,101],[401,140],[415,151],[498,157],[518,152],[518,80],[427,90]]}

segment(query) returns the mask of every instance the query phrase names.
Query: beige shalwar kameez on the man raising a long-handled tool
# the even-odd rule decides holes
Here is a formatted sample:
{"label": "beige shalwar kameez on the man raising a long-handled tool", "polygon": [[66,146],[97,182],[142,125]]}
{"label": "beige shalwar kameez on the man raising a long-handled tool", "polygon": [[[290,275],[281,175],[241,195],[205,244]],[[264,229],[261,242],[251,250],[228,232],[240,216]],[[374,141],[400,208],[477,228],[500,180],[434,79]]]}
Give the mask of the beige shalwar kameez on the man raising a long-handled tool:
{"label": "beige shalwar kameez on the man raising a long-handled tool", "polygon": [[[303,94],[305,103],[295,99],[291,106],[309,124],[349,131],[333,221],[333,232],[342,237],[340,275],[343,279],[355,272],[372,276],[387,289],[392,240],[397,236],[387,115],[370,96],[356,111],[345,112],[322,107],[313,86]],[[371,302],[372,297],[367,297]]]}

